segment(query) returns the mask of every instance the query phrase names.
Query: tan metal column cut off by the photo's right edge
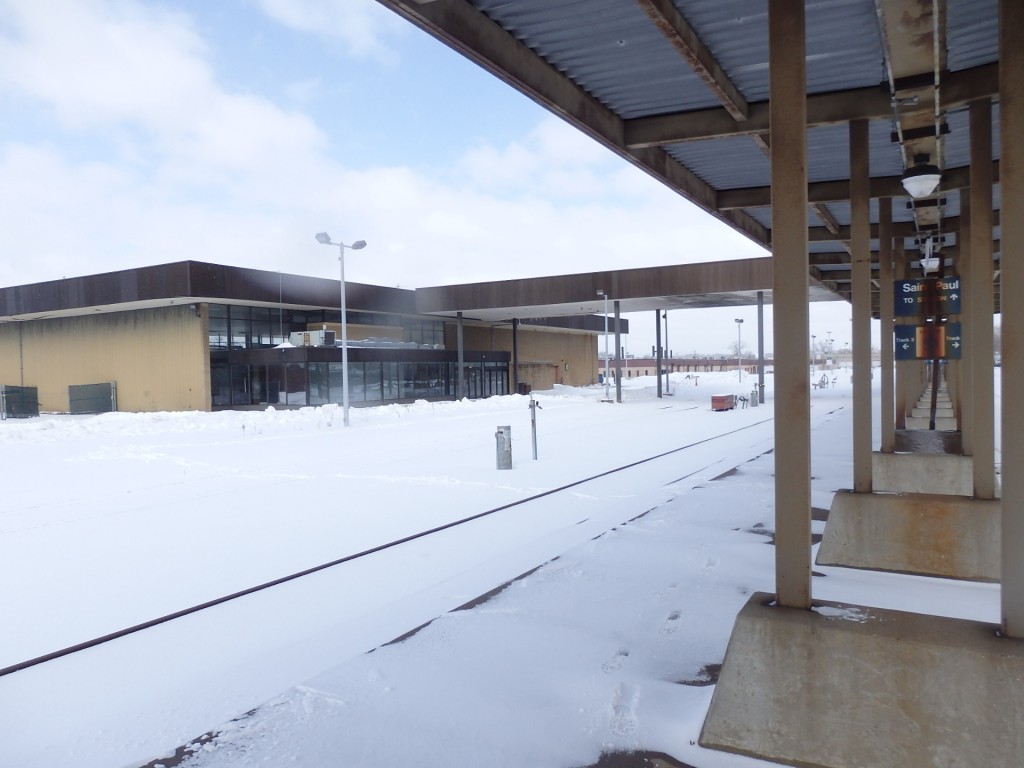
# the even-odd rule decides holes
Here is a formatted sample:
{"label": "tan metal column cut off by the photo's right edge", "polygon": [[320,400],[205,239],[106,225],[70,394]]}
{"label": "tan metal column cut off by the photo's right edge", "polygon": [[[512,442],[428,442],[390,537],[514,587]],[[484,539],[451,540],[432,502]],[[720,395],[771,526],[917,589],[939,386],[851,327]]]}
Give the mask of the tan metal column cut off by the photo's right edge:
{"label": "tan metal column cut off by the photo's right edge", "polygon": [[[1002,632],[1024,638],[1024,3],[999,1],[999,184],[1002,272]],[[973,132],[972,132],[973,133]],[[973,138],[973,136],[972,136]],[[973,183],[973,182],[972,182]],[[989,236],[990,237],[990,236]],[[975,274],[975,280],[981,275]],[[991,289],[990,289],[991,290]],[[975,395],[983,394],[975,390]]]}

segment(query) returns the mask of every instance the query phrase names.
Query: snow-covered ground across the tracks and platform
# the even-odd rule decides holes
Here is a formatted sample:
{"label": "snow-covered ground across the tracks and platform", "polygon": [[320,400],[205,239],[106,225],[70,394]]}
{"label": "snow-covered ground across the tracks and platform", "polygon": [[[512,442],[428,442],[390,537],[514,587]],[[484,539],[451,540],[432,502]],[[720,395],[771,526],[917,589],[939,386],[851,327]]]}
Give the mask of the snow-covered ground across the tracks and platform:
{"label": "snow-covered ground across the tracks and platform", "polygon": [[[0,668],[527,500],[0,677],[0,766],[167,764],[209,731],[183,765],[757,765],[695,744],[736,612],[773,590],[771,377],[712,412],[735,377],[537,393],[537,461],[517,395],[348,429],[335,407],[0,423]],[[811,398],[827,510],[849,375]],[[992,585],[816,573],[818,599],[998,621]]]}

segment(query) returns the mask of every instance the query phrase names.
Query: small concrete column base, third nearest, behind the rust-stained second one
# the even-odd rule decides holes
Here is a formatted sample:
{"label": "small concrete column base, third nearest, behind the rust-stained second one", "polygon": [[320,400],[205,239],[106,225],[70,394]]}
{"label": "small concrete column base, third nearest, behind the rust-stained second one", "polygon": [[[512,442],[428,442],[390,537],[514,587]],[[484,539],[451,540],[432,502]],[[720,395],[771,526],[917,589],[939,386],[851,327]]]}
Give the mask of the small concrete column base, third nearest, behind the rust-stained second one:
{"label": "small concrete column base, third nearest, behind the rust-stained second one", "polygon": [[871,457],[871,472],[874,490],[974,496],[971,456],[876,453]]}

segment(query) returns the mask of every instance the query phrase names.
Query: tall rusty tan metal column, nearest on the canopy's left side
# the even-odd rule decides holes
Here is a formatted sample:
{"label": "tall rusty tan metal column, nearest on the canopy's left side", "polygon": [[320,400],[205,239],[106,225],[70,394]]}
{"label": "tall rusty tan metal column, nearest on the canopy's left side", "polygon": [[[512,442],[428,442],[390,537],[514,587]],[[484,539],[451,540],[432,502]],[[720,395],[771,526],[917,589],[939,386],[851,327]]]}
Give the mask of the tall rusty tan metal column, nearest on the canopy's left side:
{"label": "tall rusty tan metal column, nearest on the canopy's left side", "polygon": [[769,0],[775,592],[792,608],[811,606],[806,45],[804,3]]}

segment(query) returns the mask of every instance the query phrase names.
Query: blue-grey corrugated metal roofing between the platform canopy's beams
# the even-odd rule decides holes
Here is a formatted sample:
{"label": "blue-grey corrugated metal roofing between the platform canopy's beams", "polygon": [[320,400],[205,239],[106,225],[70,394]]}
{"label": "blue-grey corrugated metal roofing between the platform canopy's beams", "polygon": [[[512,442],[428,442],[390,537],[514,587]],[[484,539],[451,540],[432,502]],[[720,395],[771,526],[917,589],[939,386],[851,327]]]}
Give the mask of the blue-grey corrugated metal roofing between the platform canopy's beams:
{"label": "blue-grey corrugated metal roofing between the platform canopy's beams", "polygon": [[[390,1],[381,0],[385,4]],[[928,33],[933,6],[931,2],[906,2],[896,7],[890,5],[896,2],[883,0],[880,10],[876,0],[804,0],[809,96],[874,89],[880,84],[884,85],[883,93],[887,93],[887,63],[893,65],[894,60],[894,69],[902,68],[902,75],[920,76],[928,81],[931,73],[931,35]],[[766,101],[769,95],[766,0],[672,0],[672,4],[742,98],[749,104]],[[488,57],[490,51],[486,48],[493,44],[490,30],[483,30],[486,34],[480,36],[489,42],[481,44],[480,40],[473,39],[471,32],[475,16],[468,18],[460,15],[463,12],[461,9],[468,6],[498,24],[511,38],[525,45],[585,93],[566,87],[562,81],[550,90],[546,89],[550,75],[547,67],[530,70],[524,66],[522,72],[514,71],[524,65],[518,54],[512,56],[515,60],[513,71],[505,73],[510,82],[517,83],[578,126],[592,129],[594,135],[613,151],[709,210],[714,210],[716,191],[749,189],[744,196],[749,195],[752,205],[759,207],[741,212],[722,212],[721,215],[755,240],[762,243],[770,240],[771,209],[768,207],[770,198],[767,197],[771,183],[769,158],[754,137],[735,134],[737,129],[750,129],[750,126],[741,125],[741,121],[737,125],[732,118],[721,117],[730,108],[722,109],[723,102],[694,73],[658,25],[648,17],[641,2],[464,0],[464,3],[445,4],[443,12],[437,10],[441,4],[423,6],[428,9],[424,11],[425,15],[432,19],[430,25],[425,26],[435,34],[432,25],[443,26],[449,18],[458,16],[461,20],[452,27],[452,31],[458,38],[459,47],[482,54],[481,60],[501,71],[510,60],[510,49],[502,41],[496,48],[499,51],[496,58]],[[407,4],[407,15],[415,16],[418,7],[417,3]],[[939,29],[945,33],[943,52],[947,71],[963,74],[998,61],[998,0],[944,0],[940,7],[945,8],[944,25]],[[894,43],[894,40],[897,42]],[[887,51],[887,44],[894,45],[893,50]],[[992,145],[993,157],[998,159],[999,111],[997,96],[991,93],[991,68],[967,75],[961,77],[964,87],[977,89],[972,92],[994,100]],[[941,90],[941,82],[939,87]],[[723,90],[728,89],[726,85]],[[903,93],[913,94],[914,87]],[[928,104],[931,99],[927,92],[921,95],[928,103],[918,105],[908,101],[900,108],[899,120],[910,130],[928,129],[931,110]],[[596,110],[593,115],[597,117],[592,120],[588,111],[589,98],[610,111],[611,119]],[[867,93],[865,98],[871,101],[870,110],[864,113],[870,117],[869,172],[873,179],[892,183],[892,179],[904,170],[904,151],[891,139],[896,127],[896,115],[880,117],[879,110],[886,110],[887,101],[883,100],[880,108],[877,92]],[[844,104],[835,119],[847,119],[845,111],[851,109],[856,112],[850,103]],[[706,114],[692,118],[692,123],[687,122],[690,116],[686,113],[694,111],[706,111]],[[627,146],[615,133],[620,127],[615,118],[631,121],[659,116],[669,116],[669,119],[625,126],[627,133],[633,127],[638,128],[634,135],[639,138],[634,147]],[[934,160],[947,172],[970,165],[969,117],[966,108],[957,108],[944,117],[949,133],[941,136],[941,156]],[[826,119],[833,118],[829,115]],[[848,124],[827,124],[824,119],[822,122],[825,124],[812,125],[807,131],[807,174],[812,184],[844,181],[849,178],[850,172]],[[765,130],[763,125],[757,123],[756,129]],[[680,131],[678,136],[673,135],[673,130]],[[645,131],[649,133],[645,134]],[[701,132],[705,135],[701,136]],[[678,137],[683,135],[693,140],[679,141]],[[930,146],[927,137],[908,140],[910,148],[907,152],[921,152],[922,147]],[[636,148],[639,146],[644,148]],[[677,173],[676,164],[685,170]],[[686,171],[692,172],[708,188],[692,183]],[[833,194],[834,189],[827,191]],[[998,185],[995,185],[993,199],[996,210],[1000,205],[998,193]],[[737,197],[732,196],[732,199]],[[943,217],[958,216],[958,191],[948,190],[944,197]],[[914,220],[913,211],[906,206],[907,200],[908,197],[902,195],[892,199],[893,220],[896,223],[905,224]],[[849,225],[848,202],[829,202],[825,209],[840,225]],[[878,203],[872,201],[872,222],[878,221]],[[813,207],[808,211],[808,222],[811,226],[823,226]],[[839,248],[836,241],[809,244],[812,253],[835,252]]]}

